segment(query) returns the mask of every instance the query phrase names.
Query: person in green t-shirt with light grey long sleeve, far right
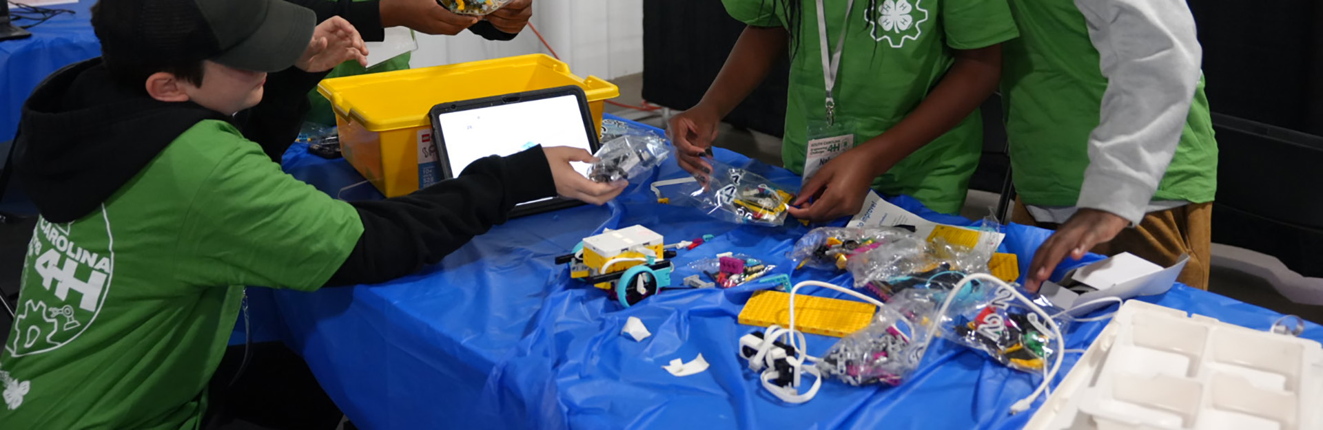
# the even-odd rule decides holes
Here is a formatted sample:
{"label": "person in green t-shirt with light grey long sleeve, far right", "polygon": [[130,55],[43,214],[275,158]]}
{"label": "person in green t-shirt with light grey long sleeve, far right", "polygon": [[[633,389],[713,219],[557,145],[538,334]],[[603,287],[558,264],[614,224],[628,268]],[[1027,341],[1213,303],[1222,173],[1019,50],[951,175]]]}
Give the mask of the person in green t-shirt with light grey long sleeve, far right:
{"label": "person in green t-shirt with light grey long sleeve, far right", "polygon": [[[1184,0],[1011,0],[1002,98],[1020,204],[1056,228],[1033,257],[1037,290],[1066,256],[1191,260],[1208,288],[1217,142]],[[1132,226],[1134,228],[1127,228]]]}

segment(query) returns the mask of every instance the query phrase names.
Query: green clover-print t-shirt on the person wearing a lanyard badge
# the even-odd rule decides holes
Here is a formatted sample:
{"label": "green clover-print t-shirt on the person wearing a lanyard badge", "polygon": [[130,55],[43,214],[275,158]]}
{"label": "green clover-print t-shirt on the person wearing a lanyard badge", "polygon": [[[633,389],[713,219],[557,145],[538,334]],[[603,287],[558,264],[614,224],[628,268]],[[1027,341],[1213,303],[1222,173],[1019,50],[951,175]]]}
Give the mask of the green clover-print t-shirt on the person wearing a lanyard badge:
{"label": "green clover-print t-shirt on the person wearing a lanyard badge", "polygon": [[[808,127],[826,120],[826,88],[814,0],[722,0],[734,18],[783,26],[792,37],[782,160],[802,173]],[[798,1],[798,13],[786,13]],[[827,40],[836,49],[844,0],[824,0]],[[791,17],[796,18],[791,18]],[[795,22],[798,21],[798,22]],[[836,121],[855,142],[900,123],[941,82],[958,49],[979,49],[1017,36],[1004,0],[855,0],[836,77]],[[975,111],[959,125],[873,182],[884,194],[908,194],[941,212],[958,212],[983,149]],[[815,136],[820,137],[820,136]]]}

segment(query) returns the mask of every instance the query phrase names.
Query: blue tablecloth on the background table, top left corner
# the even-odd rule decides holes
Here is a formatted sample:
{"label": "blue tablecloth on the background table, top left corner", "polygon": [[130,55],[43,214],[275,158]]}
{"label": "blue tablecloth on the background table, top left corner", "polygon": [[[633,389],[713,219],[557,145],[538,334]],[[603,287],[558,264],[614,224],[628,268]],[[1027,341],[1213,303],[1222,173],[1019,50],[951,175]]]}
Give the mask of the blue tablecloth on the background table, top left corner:
{"label": "blue tablecloth on the background table, top left corner", "polygon": [[[19,1],[22,3],[22,1]],[[41,79],[60,67],[101,55],[101,41],[91,32],[94,0],[57,4],[48,8],[74,11],[61,13],[28,29],[32,37],[0,42],[0,141],[13,138],[19,131],[19,111]],[[11,5],[9,13],[17,12]],[[32,21],[20,20],[15,25]]]}

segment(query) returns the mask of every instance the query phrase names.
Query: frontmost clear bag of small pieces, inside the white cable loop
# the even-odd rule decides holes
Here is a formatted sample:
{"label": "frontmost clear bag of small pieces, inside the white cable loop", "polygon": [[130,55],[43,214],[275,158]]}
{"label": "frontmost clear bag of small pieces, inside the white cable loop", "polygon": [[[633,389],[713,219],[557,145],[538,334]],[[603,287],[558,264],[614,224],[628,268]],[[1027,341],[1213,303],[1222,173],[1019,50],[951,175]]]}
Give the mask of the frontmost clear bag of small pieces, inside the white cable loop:
{"label": "frontmost clear bag of small pieces, inside the white cable loop", "polygon": [[897,294],[873,317],[873,322],[841,338],[818,363],[826,377],[849,385],[901,385],[918,368],[927,351],[929,324],[939,305],[931,292]]}

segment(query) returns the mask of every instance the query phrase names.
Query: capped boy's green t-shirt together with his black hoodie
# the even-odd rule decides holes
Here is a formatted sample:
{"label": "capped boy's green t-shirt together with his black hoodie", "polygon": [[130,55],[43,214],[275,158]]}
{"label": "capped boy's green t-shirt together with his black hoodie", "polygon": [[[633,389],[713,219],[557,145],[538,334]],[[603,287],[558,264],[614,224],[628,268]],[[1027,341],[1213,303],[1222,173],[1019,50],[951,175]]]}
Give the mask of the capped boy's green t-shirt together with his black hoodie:
{"label": "capped boy's green t-shirt together with his black hoodie", "polygon": [[153,100],[101,58],[33,92],[13,165],[41,218],[0,352],[0,427],[193,429],[245,286],[400,277],[554,195],[538,146],[406,197],[332,199],[254,142],[291,141],[320,77],[271,74],[251,113],[273,115],[235,117]]}

